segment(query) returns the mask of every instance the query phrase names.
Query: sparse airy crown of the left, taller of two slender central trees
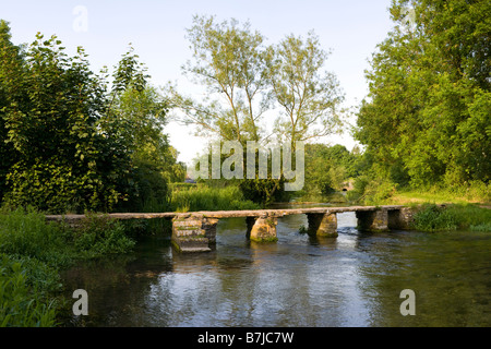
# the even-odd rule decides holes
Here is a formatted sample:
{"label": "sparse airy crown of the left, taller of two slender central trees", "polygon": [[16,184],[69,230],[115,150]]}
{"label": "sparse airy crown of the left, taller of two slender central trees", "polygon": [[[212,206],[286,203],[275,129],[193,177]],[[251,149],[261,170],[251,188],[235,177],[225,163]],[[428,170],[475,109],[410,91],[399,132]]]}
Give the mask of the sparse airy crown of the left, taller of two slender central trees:
{"label": "sparse airy crown of the left, taller of two slender central trees", "polygon": [[[261,139],[260,121],[267,100],[264,37],[250,24],[239,27],[236,20],[216,23],[213,16],[194,16],[188,39],[194,61],[182,67],[184,74],[206,87],[202,103],[172,92],[172,103],[185,113],[187,123],[201,133],[224,141]],[[218,99],[218,98],[221,99]]]}

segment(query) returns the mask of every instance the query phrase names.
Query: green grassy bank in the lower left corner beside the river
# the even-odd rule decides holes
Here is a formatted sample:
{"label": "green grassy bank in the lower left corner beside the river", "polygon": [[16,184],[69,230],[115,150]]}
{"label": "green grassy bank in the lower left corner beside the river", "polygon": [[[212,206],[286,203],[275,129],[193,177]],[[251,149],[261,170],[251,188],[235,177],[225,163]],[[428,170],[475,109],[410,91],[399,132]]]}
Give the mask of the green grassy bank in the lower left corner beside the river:
{"label": "green grassy bank in the lower left corner beside the river", "polygon": [[0,210],[0,326],[57,325],[59,272],[77,260],[129,252],[122,224],[91,217],[77,229],[34,209]]}

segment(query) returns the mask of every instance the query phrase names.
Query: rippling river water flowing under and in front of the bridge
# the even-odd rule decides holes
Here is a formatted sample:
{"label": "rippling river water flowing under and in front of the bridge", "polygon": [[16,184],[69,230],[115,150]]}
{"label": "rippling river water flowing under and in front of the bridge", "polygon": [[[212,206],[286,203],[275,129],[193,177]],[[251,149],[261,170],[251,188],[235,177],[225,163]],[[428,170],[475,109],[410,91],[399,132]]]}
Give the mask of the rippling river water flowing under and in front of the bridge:
{"label": "rippling river water flowing under and in front of the bridge", "polygon": [[[81,264],[63,284],[68,299],[87,291],[88,315],[63,325],[491,326],[491,233],[361,232],[354,213],[338,214],[336,239],[301,226],[304,215],[279,218],[278,241],[261,244],[244,218],[220,219],[214,252],[179,254],[157,234]],[[400,312],[406,289],[415,315]]]}

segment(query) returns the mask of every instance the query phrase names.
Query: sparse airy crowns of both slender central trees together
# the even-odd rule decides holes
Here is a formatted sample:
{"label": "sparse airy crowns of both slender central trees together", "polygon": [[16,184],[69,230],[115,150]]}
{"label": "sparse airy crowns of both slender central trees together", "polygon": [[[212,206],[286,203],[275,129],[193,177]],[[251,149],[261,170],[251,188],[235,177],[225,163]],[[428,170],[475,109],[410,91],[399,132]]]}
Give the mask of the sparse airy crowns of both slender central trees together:
{"label": "sparse airy crowns of both slender central trees together", "polygon": [[195,16],[188,29],[193,61],[183,72],[206,88],[193,100],[169,88],[169,100],[183,121],[201,134],[225,141],[268,141],[265,111],[279,108],[274,134],[279,142],[309,141],[332,134],[340,124],[343,94],[313,32],[294,35],[275,46],[236,20],[217,23],[214,16]]}

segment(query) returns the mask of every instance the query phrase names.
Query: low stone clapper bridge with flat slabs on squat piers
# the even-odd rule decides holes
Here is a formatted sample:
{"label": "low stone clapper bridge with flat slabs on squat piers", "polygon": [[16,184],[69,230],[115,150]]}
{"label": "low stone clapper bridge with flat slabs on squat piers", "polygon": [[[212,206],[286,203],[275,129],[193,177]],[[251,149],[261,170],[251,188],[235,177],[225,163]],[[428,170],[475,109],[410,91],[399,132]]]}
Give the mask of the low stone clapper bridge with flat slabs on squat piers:
{"label": "low stone clapper bridge with flat slabs on squat piers", "polygon": [[[253,210],[202,210],[188,213],[121,213],[106,214],[112,219],[172,219],[172,245],[179,252],[207,252],[216,243],[216,226],[220,218],[244,217],[247,237],[252,241],[273,242],[277,240],[276,225],[279,217],[307,215],[308,232],[320,237],[337,237],[337,213],[355,212],[358,229],[384,231],[409,229],[412,209],[407,206],[346,206],[310,207]],[[70,225],[84,219],[85,215],[49,215],[48,220],[64,220]]]}

